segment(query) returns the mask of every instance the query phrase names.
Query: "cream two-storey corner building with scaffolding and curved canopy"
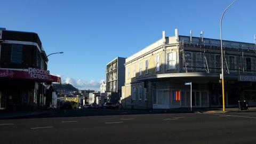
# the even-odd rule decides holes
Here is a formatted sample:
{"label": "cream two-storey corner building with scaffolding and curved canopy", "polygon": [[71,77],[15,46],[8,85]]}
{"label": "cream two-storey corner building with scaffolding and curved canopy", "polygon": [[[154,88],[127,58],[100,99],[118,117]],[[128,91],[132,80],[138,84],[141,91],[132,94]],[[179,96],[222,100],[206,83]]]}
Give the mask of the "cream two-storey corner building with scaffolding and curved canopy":
{"label": "cream two-storey corner building with scaffolding and curved canopy", "polygon": [[[255,44],[222,41],[225,69],[225,105],[238,100],[256,105]],[[122,105],[136,109],[221,107],[222,88],[220,40],[165,36],[125,60]]]}

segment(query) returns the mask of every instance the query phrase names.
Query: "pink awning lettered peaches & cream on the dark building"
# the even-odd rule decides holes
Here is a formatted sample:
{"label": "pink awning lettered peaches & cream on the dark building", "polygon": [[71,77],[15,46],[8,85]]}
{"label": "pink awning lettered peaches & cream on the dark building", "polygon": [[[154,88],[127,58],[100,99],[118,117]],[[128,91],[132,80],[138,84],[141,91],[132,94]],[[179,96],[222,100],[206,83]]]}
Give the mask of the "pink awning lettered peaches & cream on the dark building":
{"label": "pink awning lettered peaches & cream on the dark building", "polygon": [[61,83],[61,78],[50,74],[49,70],[28,68],[28,69],[0,69],[0,78],[22,78],[40,82]]}

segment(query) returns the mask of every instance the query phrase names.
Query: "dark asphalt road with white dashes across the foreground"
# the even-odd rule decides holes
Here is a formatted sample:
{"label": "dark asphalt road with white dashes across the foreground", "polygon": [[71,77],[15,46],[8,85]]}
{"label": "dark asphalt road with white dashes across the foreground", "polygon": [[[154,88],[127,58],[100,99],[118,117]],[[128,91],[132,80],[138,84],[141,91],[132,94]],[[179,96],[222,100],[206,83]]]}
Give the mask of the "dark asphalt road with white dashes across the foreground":
{"label": "dark asphalt road with white dashes across the foreground", "polygon": [[[255,112],[131,115],[114,110],[102,113],[106,112],[108,115],[83,116],[86,111],[69,111],[45,118],[1,120],[0,143],[256,142]],[[116,115],[120,112],[122,115]]]}

